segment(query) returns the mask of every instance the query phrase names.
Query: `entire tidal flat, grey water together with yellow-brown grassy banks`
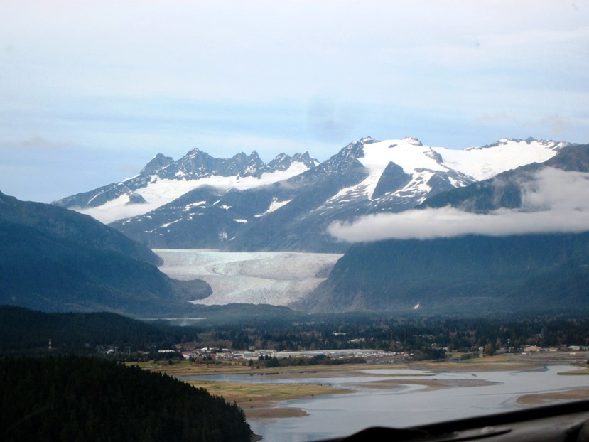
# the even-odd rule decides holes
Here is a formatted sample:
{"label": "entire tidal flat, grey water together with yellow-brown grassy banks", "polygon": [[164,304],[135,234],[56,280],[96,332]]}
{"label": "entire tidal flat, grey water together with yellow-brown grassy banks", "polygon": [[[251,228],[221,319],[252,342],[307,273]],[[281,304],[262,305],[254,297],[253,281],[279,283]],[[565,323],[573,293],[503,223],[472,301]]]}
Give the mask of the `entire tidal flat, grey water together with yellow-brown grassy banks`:
{"label": "entire tidal flat, grey water together with yellow-brown grassy banks", "polygon": [[[252,368],[163,366],[175,377],[235,401],[254,432],[313,441],[367,426],[411,426],[558,401],[589,399],[589,354],[500,355],[445,362]],[[577,376],[560,376],[576,372]],[[583,373],[583,374],[581,374]],[[337,428],[325,422],[337,421]]]}

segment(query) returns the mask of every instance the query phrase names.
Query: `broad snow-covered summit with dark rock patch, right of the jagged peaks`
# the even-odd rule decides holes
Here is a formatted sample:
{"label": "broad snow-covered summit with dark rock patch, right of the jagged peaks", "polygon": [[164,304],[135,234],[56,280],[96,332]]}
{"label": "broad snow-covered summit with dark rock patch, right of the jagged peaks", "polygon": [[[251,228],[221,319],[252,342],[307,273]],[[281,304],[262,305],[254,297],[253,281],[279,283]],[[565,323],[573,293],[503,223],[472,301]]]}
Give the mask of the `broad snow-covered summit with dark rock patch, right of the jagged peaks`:
{"label": "broad snow-covered summit with dark rock patch, right of the jagged peaks", "polygon": [[[360,161],[367,168],[368,176],[361,183],[340,190],[324,207],[362,198],[420,201],[441,190],[468,185],[524,164],[546,161],[561,146],[556,141],[501,139],[483,148],[459,151],[423,146],[414,137],[361,139],[348,144],[341,153]],[[387,167],[389,174],[385,178]],[[375,192],[377,186],[379,191]]]}

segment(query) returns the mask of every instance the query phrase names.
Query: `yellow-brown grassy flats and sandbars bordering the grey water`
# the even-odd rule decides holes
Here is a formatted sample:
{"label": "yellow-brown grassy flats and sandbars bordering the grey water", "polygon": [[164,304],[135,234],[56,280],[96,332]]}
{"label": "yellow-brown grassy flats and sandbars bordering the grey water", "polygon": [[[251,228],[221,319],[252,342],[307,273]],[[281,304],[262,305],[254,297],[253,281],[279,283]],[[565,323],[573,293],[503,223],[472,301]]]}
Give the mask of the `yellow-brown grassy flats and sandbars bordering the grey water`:
{"label": "yellow-brown grassy flats and sandbars bordering the grey water", "polygon": [[[235,402],[244,410],[247,419],[276,420],[287,417],[308,416],[306,411],[296,407],[281,407],[282,401],[291,399],[308,399],[328,394],[352,394],[360,389],[402,389],[404,385],[421,385],[424,389],[448,389],[454,387],[477,387],[490,384],[477,379],[456,379],[453,381],[431,379],[432,374],[421,374],[423,379],[404,379],[409,374],[366,373],[365,370],[425,370],[432,372],[489,372],[508,370],[537,370],[546,365],[578,366],[575,374],[589,374],[585,370],[589,352],[566,352],[544,354],[511,354],[472,358],[461,361],[443,362],[409,362],[397,364],[354,364],[354,365],[315,365],[301,370],[301,367],[250,368],[242,365],[171,365],[153,367],[150,370],[165,372],[173,377],[183,379],[194,387],[207,389],[211,394],[222,396],[228,402]],[[267,382],[225,382],[200,379],[185,379],[193,376],[217,374],[249,374],[250,376],[271,377],[272,379],[305,379],[332,377],[399,377],[352,385],[352,389],[330,387],[306,383],[267,383]],[[588,399],[589,389],[571,389],[563,392],[544,394],[524,394],[517,398],[517,404],[534,406],[549,404],[554,401]]]}

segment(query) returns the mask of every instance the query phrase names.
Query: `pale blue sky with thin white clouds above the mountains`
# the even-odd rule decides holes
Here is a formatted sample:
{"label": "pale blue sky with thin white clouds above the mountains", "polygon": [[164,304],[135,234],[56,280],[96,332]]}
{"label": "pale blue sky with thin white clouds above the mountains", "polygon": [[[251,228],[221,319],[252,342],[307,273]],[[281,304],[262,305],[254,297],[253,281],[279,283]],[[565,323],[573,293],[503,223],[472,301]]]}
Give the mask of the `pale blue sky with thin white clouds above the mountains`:
{"label": "pale blue sky with thin white clouds above the mountains", "polygon": [[48,203],[198,147],[589,142],[589,1],[0,1],[0,190]]}

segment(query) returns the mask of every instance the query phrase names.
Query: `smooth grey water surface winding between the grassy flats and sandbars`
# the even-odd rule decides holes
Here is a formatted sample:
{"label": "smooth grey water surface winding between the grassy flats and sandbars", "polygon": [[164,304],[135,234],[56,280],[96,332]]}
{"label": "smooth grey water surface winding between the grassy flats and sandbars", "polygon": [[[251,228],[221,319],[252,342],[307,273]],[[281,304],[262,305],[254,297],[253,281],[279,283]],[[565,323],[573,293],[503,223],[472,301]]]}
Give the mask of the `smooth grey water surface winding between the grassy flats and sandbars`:
{"label": "smooth grey water surface winding between the grassy flats and sandbars", "polygon": [[[495,414],[521,408],[516,399],[524,394],[589,387],[588,377],[557,375],[558,372],[566,370],[571,370],[571,367],[553,365],[526,371],[472,373],[387,369],[365,370],[362,376],[303,379],[220,374],[198,379],[225,382],[313,383],[352,388],[357,391],[352,394],[335,394],[280,403],[283,407],[303,409],[309,414],[305,417],[249,420],[252,430],[264,436],[266,441],[294,442],[345,436],[369,426],[406,427]],[[399,377],[399,374],[416,376]],[[425,374],[430,376],[425,377]],[[429,383],[438,380],[445,388],[436,389],[414,384],[412,382],[415,382],[415,379],[428,379]],[[387,380],[410,382],[401,389],[374,389],[374,385],[371,384]],[[449,384],[455,386],[448,388]]]}

